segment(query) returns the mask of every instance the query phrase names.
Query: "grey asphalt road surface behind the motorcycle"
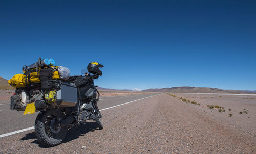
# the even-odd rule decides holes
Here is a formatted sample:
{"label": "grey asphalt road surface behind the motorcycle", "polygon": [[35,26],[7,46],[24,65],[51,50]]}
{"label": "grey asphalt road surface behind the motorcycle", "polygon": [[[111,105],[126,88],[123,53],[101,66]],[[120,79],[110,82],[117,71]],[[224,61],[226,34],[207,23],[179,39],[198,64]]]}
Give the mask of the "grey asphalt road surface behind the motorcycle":
{"label": "grey asphalt road surface behind the motorcycle", "polygon": [[[153,95],[156,94],[100,97],[98,107],[101,110]],[[23,115],[23,111],[10,110],[9,103],[0,104],[0,135],[34,126],[38,113]]]}

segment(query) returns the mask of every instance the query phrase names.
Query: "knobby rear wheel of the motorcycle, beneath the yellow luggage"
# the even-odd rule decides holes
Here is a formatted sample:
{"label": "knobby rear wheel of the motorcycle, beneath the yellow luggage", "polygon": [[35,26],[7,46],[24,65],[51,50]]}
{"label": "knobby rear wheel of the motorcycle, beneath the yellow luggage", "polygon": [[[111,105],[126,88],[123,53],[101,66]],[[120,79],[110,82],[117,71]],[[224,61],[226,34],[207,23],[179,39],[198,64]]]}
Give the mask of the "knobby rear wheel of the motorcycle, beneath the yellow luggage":
{"label": "knobby rear wheel of the motorcycle, beneath the yellow luggage", "polygon": [[35,134],[39,142],[47,146],[60,144],[67,134],[67,126],[58,127],[57,121],[65,118],[60,110],[41,111],[35,121]]}

